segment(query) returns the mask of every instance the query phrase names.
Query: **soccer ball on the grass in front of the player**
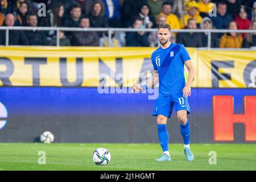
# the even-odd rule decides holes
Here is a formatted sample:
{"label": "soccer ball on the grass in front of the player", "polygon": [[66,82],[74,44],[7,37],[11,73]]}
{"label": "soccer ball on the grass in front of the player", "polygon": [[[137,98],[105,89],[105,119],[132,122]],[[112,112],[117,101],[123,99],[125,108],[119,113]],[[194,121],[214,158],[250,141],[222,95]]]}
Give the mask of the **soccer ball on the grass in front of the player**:
{"label": "soccer ball on the grass in front of the player", "polygon": [[110,162],[111,155],[106,148],[97,148],[93,152],[93,161],[97,165],[106,165]]}

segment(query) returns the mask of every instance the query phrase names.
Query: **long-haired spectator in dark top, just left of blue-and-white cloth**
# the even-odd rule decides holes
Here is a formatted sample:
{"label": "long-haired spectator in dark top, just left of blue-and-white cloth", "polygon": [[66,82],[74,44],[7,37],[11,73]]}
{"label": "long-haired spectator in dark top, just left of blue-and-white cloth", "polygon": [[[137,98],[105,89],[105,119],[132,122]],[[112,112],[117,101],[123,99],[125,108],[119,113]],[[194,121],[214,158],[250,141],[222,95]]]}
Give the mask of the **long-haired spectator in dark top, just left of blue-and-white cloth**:
{"label": "long-haired spectator in dark top, just left of blue-and-white cloth", "polygon": [[[90,10],[90,26],[97,28],[108,27],[107,20],[105,18],[105,9],[101,1],[96,0],[92,3]],[[102,37],[103,32],[98,32],[98,36]]]}

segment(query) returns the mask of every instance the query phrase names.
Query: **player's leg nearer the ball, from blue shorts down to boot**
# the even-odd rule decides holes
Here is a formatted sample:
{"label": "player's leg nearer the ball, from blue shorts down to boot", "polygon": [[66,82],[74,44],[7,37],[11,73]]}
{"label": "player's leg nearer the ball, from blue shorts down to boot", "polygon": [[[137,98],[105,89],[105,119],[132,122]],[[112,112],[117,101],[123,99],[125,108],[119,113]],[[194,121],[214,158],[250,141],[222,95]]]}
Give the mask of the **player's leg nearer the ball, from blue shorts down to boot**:
{"label": "player's leg nearer the ball, from blue shorts down to boot", "polygon": [[163,150],[163,155],[156,159],[156,161],[170,161],[170,152],[168,150],[168,141],[169,135],[167,131],[167,118],[171,115],[171,103],[170,98],[158,98],[155,105],[155,110],[153,111],[153,115],[157,115],[157,125],[158,125],[158,138],[160,146]]}

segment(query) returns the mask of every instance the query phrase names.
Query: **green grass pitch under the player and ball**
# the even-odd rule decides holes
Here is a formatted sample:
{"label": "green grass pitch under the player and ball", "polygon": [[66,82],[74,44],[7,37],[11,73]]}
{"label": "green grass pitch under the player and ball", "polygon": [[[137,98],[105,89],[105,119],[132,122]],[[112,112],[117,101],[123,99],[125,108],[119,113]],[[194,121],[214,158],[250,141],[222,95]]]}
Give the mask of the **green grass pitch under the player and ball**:
{"label": "green grass pitch under the player and ball", "polygon": [[[92,153],[107,148],[112,159],[96,166]],[[0,143],[0,170],[256,170],[256,144],[191,144],[195,156],[187,162],[183,144],[170,144],[171,162],[155,162],[159,144],[114,143]],[[46,165],[38,164],[38,151],[46,152]],[[209,164],[209,151],[217,164]]]}

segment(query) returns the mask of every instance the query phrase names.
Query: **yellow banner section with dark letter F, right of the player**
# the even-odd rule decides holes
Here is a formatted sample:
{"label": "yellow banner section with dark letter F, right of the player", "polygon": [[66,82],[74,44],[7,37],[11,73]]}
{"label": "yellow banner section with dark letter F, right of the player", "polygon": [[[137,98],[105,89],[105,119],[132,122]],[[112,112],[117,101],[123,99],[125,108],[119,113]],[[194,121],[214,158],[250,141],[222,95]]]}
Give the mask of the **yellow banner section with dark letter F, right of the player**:
{"label": "yellow banner section with dark letter F, right of the player", "polygon": [[256,51],[197,51],[197,87],[255,88]]}

